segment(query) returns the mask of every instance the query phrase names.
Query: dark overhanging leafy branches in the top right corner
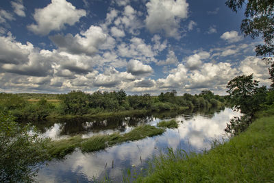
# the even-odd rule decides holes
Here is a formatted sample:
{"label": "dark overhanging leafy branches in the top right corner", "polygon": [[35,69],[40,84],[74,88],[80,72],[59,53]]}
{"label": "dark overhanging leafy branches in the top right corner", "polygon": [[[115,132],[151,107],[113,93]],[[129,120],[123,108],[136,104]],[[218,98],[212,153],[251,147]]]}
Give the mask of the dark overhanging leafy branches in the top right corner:
{"label": "dark overhanging leafy branches in the top right corner", "polygon": [[240,29],[245,36],[256,38],[262,35],[264,45],[256,46],[256,55],[269,57],[273,61],[274,54],[274,1],[273,0],[227,0],[225,4],[234,12],[238,12],[246,4],[245,17]]}

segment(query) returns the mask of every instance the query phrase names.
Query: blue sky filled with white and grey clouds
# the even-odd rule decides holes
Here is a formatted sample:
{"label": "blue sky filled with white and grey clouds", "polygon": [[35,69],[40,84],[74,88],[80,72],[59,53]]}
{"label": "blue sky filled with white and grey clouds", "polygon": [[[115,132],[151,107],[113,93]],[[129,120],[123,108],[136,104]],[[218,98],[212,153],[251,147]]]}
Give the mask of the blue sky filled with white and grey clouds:
{"label": "blue sky filled with white and grey clouds", "polygon": [[225,95],[251,73],[269,86],[244,18],[225,0],[1,0],[0,92]]}

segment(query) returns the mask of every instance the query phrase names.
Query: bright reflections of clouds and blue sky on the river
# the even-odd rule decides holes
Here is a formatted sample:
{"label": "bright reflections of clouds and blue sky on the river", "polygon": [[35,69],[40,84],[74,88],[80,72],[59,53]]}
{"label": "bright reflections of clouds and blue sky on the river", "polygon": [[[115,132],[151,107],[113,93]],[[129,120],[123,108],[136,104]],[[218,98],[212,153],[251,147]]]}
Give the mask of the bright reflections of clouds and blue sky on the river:
{"label": "bright reflections of clouds and blue sky on the river", "polygon": [[[149,160],[153,155],[165,151],[166,147],[173,149],[181,148],[186,151],[201,151],[210,149],[214,139],[227,138],[225,134],[226,123],[234,116],[239,116],[239,112],[234,112],[229,108],[214,114],[180,114],[175,117],[179,123],[178,129],[168,129],[162,136],[145,138],[140,141],[123,143],[109,147],[105,150],[82,154],[81,151],[74,151],[66,156],[66,160],[49,162],[38,173],[38,182],[92,182],[94,178],[99,180],[106,176],[121,182],[126,169],[140,171],[141,167],[146,167],[145,160]],[[158,118],[150,118],[141,123],[156,125]],[[51,137],[59,137],[58,125],[53,125],[51,130],[45,134]],[[123,132],[128,132],[131,125],[125,124]],[[114,130],[105,130],[103,133],[111,133]],[[58,134],[59,133],[59,134]],[[86,136],[92,135],[92,132]],[[62,137],[62,136],[61,136]],[[112,169],[112,161],[114,168]]]}

